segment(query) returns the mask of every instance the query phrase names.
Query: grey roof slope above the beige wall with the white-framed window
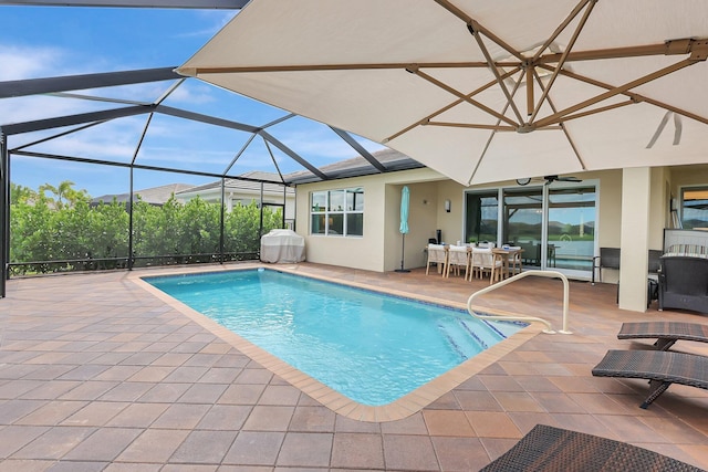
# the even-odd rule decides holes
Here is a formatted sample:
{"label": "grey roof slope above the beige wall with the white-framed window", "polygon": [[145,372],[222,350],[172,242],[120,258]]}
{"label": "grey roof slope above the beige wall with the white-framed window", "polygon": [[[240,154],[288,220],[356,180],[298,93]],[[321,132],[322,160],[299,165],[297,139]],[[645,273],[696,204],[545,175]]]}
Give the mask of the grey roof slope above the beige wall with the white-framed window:
{"label": "grey roof slope above the beige wall with the white-framed window", "polygon": [[[376,153],[372,153],[374,159],[381,162],[387,170],[407,170],[419,169],[425,166],[416,160],[413,160],[405,154],[402,154],[394,149],[382,149]],[[346,177],[368,176],[373,174],[379,174],[368,160],[357,156],[352,159],[341,160],[326,166],[320,167],[320,170],[324,172],[329,178],[343,179]],[[301,170],[283,176],[288,183],[309,183],[320,181],[321,179],[312,175],[308,170]]]}

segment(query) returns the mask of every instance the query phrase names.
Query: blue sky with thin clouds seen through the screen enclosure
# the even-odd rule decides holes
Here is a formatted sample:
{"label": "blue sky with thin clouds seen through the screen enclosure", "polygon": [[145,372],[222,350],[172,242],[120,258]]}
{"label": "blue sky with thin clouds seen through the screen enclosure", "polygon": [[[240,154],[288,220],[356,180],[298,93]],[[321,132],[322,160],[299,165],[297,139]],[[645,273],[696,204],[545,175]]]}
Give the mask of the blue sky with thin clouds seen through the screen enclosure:
{"label": "blue sky with thin clouds seen through the screen enclosure", "polygon": [[[3,24],[0,28],[0,82],[179,66],[236,14],[238,11],[229,10],[0,6]],[[156,82],[71,93],[152,103],[171,84]],[[196,78],[183,83],[164,104],[254,126],[288,114]],[[0,125],[119,106],[124,105],[60,96],[0,98]],[[214,174],[223,172],[244,148],[229,175],[253,170],[277,172],[278,169],[288,174],[303,169],[278,149],[269,149],[261,138],[246,146],[250,134],[162,114],[149,122],[140,143],[146,122],[147,115],[119,118],[44,143],[35,141],[74,127],[13,135],[8,144],[10,149],[34,143],[24,150],[122,164],[135,158],[135,162],[146,166]],[[329,127],[303,117],[288,119],[268,130],[316,167],[356,156]],[[355,138],[369,151],[383,148]],[[123,167],[15,155],[11,156],[10,178],[14,183],[34,189],[44,183],[56,187],[70,180],[75,189],[85,189],[93,197],[129,190],[128,170]],[[214,180],[136,170],[134,188],[175,182],[200,185]]]}

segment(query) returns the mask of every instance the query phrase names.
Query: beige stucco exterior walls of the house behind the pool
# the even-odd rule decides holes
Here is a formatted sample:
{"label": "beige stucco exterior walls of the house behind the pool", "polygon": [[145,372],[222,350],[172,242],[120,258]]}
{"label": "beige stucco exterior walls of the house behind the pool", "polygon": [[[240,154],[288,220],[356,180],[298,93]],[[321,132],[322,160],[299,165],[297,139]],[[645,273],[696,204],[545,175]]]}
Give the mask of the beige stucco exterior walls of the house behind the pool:
{"label": "beige stucco exterior walls of the house behind the pool", "polygon": [[[598,182],[597,247],[620,248],[623,229],[623,170],[576,174],[585,181]],[[678,196],[678,188],[708,183],[708,167],[650,169],[649,249],[662,249],[664,228],[669,219],[669,193]],[[442,240],[455,243],[462,239],[464,198],[466,190],[514,186],[512,181],[494,186],[465,188],[430,169],[416,169],[367,177],[301,185],[296,198],[296,231],[305,237],[308,260],[372,271],[400,268],[402,235],[398,232],[400,189],[410,190],[409,233],[405,238],[405,269],[425,265],[423,251],[436,229]],[[363,187],[365,192],[364,235],[336,238],[309,234],[310,192],[316,190]],[[633,189],[627,189],[633,195]],[[637,195],[637,198],[643,198]],[[450,212],[444,209],[450,200]],[[604,271],[604,282],[616,282],[618,272]]]}

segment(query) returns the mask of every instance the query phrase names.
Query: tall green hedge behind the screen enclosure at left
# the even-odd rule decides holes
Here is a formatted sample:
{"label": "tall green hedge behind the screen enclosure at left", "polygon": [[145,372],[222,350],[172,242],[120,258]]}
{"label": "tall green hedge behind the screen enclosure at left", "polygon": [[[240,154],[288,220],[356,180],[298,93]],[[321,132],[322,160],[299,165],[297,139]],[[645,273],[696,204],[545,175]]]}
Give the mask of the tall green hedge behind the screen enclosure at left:
{"label": "tall green hedge behind the screen enclosure at left", "polygon": [[[69,183],[69,185],[67,185]],[[85,191],[11,185],[10,263],[14,274],[123,268],[128,259],[129,214],[124,203],[91,204]],[[51,191],[54,197],[46,193]],[[282,211],[256,202],[225,212],[227,259],[257,259],[260,237],[282,227]],[[139,199],[133,206],[135,265],[218,260],[221,206],[174,196],[163,206]]]}

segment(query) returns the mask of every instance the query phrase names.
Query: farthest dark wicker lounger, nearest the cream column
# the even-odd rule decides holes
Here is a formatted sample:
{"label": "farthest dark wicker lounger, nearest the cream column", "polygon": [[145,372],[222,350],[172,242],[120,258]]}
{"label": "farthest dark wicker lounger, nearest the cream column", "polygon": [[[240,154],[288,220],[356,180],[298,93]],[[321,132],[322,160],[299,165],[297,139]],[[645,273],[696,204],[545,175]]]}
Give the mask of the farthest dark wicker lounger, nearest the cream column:
{"label": "farthest dark wicker lounger, nearest the cream column", "polygon": [[708,324],[680,322],[623,323],[618,339],[654,339],[659,350],[668,350],[678,339],[708,343]]}

